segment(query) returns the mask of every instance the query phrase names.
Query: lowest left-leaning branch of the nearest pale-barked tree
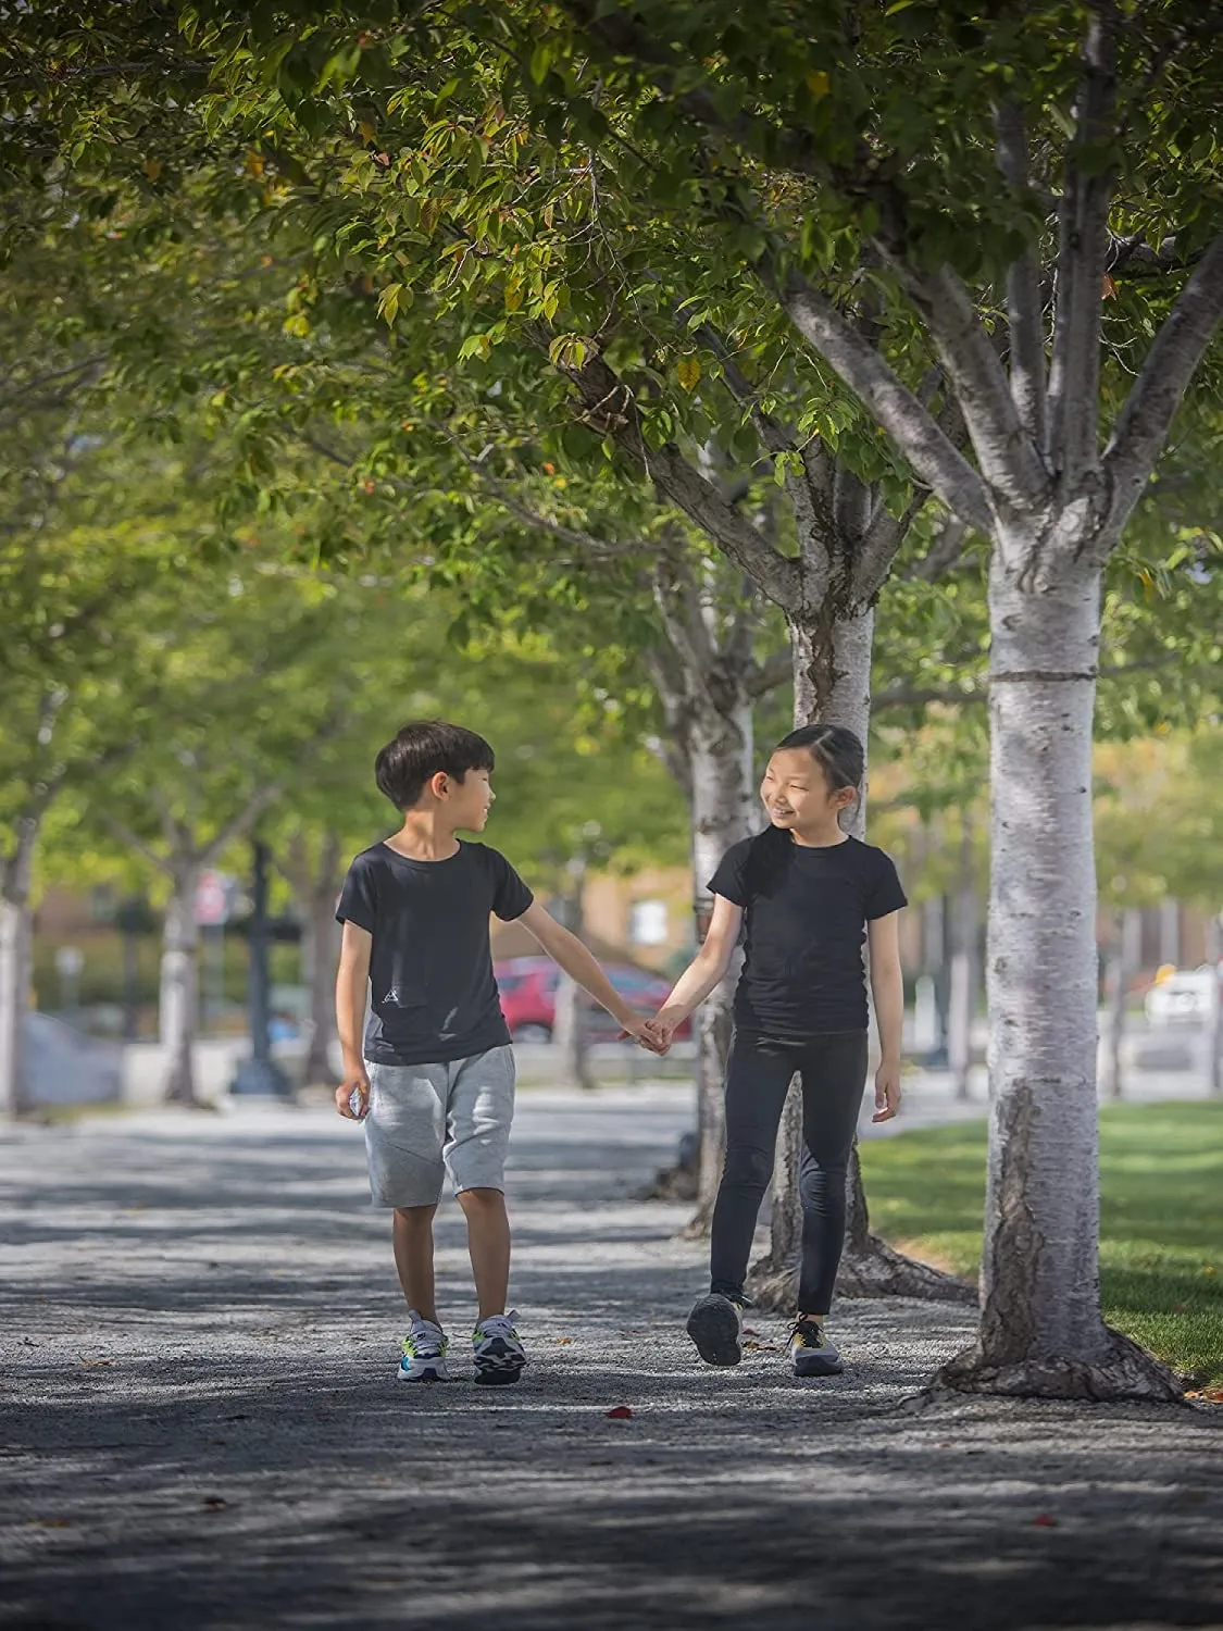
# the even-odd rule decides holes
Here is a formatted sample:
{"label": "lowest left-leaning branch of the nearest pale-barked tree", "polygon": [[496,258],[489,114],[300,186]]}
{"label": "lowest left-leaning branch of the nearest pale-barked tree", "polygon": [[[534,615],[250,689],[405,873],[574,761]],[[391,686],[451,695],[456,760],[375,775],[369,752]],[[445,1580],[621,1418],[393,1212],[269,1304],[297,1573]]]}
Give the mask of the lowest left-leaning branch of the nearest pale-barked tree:
{"label": "lowest left-leaning branch of the nearest pale-barked tree", "polygon": [[871,409],[918,478],[964,522],[991,533],[993,514],[980,475],[879,352],[806,279],[791,276],[779,298],[804,339]]}

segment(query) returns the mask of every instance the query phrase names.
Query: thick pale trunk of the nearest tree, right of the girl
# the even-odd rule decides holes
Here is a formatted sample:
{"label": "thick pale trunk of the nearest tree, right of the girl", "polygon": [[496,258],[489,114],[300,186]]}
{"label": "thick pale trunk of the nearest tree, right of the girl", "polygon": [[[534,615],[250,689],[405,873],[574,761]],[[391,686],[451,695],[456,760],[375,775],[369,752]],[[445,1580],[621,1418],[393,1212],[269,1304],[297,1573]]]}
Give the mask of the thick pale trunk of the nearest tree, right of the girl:
{"label": "thick pale trunk of the nearest tree, right of the girl", "polygon": [[[1024,550],[1039,555],[1039,546]],[[1099,1302],[1093,703],[1099,574],[990,572],[990,1156],[978,1347],[944,1370],[1001,1393],[1176,1398]]]}

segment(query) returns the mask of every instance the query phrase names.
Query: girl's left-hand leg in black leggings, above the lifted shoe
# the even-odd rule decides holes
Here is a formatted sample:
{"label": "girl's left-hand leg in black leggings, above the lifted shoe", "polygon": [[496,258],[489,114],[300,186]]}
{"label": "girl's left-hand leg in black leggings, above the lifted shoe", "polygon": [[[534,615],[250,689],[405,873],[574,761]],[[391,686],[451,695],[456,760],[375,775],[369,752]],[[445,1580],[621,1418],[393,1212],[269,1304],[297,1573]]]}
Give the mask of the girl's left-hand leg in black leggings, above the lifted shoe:
{"label": "girl's left-hand leg in black leggings, above the lifted shoe", "polygon": [[726,1070],[726,1163],[709,1240],[709,1290],[744,1295],[760,1202],[773,1176],[786,1090],[797,1068],[793,1049],[735,1036]]}

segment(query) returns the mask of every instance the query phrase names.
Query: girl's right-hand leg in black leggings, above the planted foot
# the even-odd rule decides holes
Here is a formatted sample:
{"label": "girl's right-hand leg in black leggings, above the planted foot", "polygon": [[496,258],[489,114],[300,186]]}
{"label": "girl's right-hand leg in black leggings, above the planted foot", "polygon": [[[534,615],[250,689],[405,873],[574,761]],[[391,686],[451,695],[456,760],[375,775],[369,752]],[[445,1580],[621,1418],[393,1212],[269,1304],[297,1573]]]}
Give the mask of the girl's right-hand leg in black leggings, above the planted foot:
{"label": "girl's right-hand leg in black leggings, above the planted foot", "polygon": [[864,1031],[820,1037],[802,1054],[802,1269],[799,1315],[823,1315],[845,1246],[845,1171],[866,1088]]}

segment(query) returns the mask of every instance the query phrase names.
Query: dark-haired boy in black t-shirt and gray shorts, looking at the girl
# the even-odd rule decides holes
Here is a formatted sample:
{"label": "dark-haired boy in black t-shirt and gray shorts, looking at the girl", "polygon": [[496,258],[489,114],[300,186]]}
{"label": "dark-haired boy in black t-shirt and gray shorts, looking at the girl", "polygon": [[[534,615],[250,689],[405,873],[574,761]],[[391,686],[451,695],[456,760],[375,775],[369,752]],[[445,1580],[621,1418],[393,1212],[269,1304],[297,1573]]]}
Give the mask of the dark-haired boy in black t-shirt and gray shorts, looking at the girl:
{"label": "dark-haired boy in black t-shirt and gray shorts, looking at the girl", "polygon": [[[510,1233],[504,1165],[514,1050],[492,979],[489,913],[520,918],[566,974],[651,1052],[665,1052],[585,946],[533,900],[509,861],[455,833],[483,832],[494,758],[473,731],[406,724],[378,754],[378,789],[403,816],[393,838],[349,868],[336,1019],[341,1116],[365,1122],[375,1204],[393,1209],[395,1266],[408,1300],[404,1381],[447,1377],[434,1302],[434,1213],[445,1171],[466,1217],[479,1298],[475,1380],[512,1383],[527,1355],[507,1313]],[[367,985],[370,1021],[362,1039]],[[355,1104],[355,1114],[354,1114]]]}

